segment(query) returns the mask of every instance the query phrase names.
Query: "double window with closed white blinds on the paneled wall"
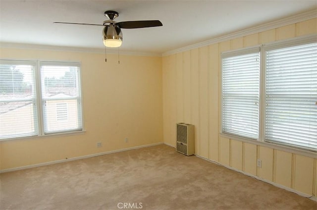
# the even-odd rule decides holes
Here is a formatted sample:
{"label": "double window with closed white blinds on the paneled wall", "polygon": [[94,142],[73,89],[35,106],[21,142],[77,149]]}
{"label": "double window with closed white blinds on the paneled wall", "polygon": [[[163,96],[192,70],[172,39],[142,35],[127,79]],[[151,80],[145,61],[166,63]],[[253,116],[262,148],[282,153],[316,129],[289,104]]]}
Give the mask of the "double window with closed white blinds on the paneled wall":
{"label": "double window with closed white blinds on the paneled wall", "polygon": [[316,37],[256,49],[222,54],[222,133],[316,151]]}

